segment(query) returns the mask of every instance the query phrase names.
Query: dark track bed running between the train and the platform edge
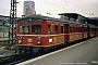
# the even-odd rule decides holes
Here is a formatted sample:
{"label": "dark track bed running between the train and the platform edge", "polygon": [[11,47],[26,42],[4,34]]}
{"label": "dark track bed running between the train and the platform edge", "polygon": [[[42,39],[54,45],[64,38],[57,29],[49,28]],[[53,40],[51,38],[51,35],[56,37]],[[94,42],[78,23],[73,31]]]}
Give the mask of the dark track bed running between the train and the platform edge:
{"label": "dark track bed running between the train and the platform edge", "polygon": [[[84,40],[85,41],[85,40]],[[70,46],[73,46],[73,44],[76,44],[78,43],[79,41],[77,42],[73,42],[71,44],[66,44],[66,46],[61,46],[59,48],[56,48],[53,50],[50,50],[46,53],[38,53],[38,54],[32,54],[32,53],[21,53],[21,54],[14,54],[14,55],[8,55],[8,56],[3,56],[3,57],[0,57],[0,65],[14,65],[14,64],[17,64],[17,63],[21,63],[21,62],[24,62],[24,61],[27,61],[27,60],[30,60],[30,58],[35,58],[35,57],[38,57],[40,55],[44,55],[44,54],[47,54],[47,53],[50,53],[50,52],[53,52],[53,51],[57,51],[57,50],[60,50],[62,48],[65,48],[65,47],[70,47]],[[82,42],[82,41],[81,41]]]}

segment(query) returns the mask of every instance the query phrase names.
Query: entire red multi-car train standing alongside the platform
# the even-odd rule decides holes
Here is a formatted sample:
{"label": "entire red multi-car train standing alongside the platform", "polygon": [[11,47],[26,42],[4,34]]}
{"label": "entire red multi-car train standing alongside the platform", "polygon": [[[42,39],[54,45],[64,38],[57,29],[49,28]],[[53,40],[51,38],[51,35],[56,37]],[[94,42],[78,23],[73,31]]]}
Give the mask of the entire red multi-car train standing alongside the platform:
{"label": "entire red multi-car train standing alongside the platform", "polygon": [[37,53],[40,50],[98,36],[98,27],[61,18],[32,15],[17,21],[16,46]]}

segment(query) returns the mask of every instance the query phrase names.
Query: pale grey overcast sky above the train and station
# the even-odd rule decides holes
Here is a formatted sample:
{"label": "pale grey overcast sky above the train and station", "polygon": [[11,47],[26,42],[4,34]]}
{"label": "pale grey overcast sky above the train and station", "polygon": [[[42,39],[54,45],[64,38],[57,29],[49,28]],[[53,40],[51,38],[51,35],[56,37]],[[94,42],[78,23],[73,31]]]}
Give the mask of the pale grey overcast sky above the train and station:
{"label": "pale grey overcast sky above the train and station", "polygon": [[[17,16],[23,14],[23,2],[17,0]],[[79,13],[84,16],[98,16],[98,0],[32,0],[37,14],[59,17],[58,13]],[[9,15],[10,0],[1,0],[0,15]],[[51,15],[48,15],[50,13]],[[91,15],[94,13],[94,15]]]}

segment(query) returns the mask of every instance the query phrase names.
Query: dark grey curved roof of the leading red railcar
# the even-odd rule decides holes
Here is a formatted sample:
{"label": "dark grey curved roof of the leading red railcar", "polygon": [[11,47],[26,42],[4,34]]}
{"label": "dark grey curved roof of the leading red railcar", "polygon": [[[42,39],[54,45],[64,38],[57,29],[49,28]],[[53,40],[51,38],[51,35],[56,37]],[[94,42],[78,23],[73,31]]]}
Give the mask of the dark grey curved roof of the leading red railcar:
{"label": "dark grey curved roof of the leading red railcar", "polygon": [[23,18],[20,18],[17,22],[30,22],[30,21],[36,21],[36,22],[45,22],[45,21],[56,21],[56,22],[65,22],[64,20],[61,18],[54,18],[54,17],[49,17],[49,16],[44,16],[44,15],[30,15],[26,16]]}

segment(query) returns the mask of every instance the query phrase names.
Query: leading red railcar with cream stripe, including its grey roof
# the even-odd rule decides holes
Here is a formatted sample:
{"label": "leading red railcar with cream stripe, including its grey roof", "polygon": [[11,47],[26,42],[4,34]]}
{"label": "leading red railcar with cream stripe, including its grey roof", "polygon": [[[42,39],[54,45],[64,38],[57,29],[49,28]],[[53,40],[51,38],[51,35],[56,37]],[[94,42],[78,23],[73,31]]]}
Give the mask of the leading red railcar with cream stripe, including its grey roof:
{"label": "leading red railcar with cream stripe, including its grey roof", "polygon": [[48,48],[64,42],[64,24],[58,18],[33,15],[17,22],[19,47]]}

